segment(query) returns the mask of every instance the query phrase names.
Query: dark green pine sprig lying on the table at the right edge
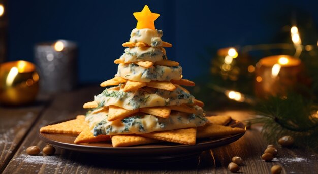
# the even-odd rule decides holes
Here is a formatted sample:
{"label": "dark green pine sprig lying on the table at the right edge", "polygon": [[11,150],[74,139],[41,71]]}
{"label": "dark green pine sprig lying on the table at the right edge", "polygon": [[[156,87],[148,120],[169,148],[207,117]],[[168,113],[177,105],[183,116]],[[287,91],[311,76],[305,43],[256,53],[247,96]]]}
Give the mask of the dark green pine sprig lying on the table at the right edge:
{"label": "dark green pine sprig lying on the table at the right edge", "polygon": [[269,142],[290,135],[296,146],[318,151],[318,108],[300,94],[273,96],[255,107],[257,118],[251,124],[262,123],[262,133]]}

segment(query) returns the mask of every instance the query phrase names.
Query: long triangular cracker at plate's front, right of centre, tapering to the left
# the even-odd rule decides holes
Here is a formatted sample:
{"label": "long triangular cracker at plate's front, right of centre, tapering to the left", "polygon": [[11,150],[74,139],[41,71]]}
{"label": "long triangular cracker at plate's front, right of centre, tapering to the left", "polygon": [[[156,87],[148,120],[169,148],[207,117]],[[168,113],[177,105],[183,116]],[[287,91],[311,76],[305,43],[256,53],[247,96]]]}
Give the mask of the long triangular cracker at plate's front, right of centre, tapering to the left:
{"label": "long triangular cracker at plate's front, right of centre, tapering to the left", "polygon": [[184,145],[194,145],[196,144],[196,132],[197,132],[197,129],[192,127],[192,128],[186,128],[186,129],[152,132],[152,133],[139,134],[139,135],[148,137],[148,138],[153,138],[156,140],[180,143]]}

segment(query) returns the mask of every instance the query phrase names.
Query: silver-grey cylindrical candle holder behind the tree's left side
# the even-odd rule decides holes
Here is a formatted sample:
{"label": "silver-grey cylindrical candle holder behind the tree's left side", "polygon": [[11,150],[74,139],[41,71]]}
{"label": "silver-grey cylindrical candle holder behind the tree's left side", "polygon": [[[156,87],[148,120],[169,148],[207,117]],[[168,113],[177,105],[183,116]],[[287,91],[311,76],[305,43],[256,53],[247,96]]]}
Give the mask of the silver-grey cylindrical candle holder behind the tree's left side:
{"label": "silver-grey cylindrical candle holder behind the tree's left side", "polygon": [[66,40],[38,43],[35,62],[40,70],[41,91],[70,91],[77,85],[77,45]]}

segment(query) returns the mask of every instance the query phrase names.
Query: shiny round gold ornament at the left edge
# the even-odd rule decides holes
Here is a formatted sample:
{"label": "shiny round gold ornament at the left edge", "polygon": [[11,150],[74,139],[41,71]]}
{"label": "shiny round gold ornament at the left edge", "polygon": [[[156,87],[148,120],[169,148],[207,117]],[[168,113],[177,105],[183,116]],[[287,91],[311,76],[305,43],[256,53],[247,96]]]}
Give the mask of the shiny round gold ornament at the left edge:
{"label": "shiny round gold ornament at the left edge", "polygon": [[34,101],[38,92],[34,64],[23,60],[0,64],[0,104],[24,105]]}

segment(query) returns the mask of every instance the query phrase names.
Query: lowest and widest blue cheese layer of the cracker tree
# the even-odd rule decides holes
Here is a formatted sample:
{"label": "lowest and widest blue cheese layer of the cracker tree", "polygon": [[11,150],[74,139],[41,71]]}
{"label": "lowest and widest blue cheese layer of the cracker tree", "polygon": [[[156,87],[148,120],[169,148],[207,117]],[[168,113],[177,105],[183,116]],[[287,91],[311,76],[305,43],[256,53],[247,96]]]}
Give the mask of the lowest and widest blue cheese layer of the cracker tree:
{"label": "lowest and widest blue cheese layer of the cracker tree", "polygon": [[207,123],[207,119],[201,115],[172,112],[169,118],[155,117],[151,114],[139,113],[122,120],[107,121],[106,113],[98,113],[100,116],[91,116],[90,127],[94,136],[117,134],[143,134],[154,131],[199,127]]}

